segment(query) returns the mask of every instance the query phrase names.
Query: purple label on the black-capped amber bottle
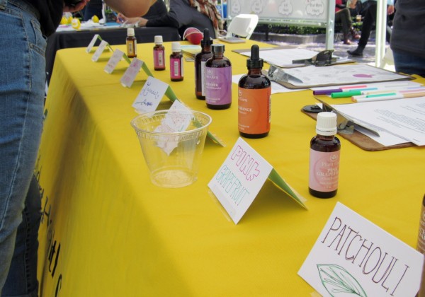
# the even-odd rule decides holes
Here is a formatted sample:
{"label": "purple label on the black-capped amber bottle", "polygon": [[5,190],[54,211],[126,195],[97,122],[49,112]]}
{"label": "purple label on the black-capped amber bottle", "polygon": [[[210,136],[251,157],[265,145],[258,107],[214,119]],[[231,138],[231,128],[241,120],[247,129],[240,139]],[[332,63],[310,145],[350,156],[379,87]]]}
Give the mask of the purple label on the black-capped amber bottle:
{"label": "purple label on the black-capped amber bottle", "polygon": [[232,103],[232,67],[205,67],[205,100],[211,105]]}

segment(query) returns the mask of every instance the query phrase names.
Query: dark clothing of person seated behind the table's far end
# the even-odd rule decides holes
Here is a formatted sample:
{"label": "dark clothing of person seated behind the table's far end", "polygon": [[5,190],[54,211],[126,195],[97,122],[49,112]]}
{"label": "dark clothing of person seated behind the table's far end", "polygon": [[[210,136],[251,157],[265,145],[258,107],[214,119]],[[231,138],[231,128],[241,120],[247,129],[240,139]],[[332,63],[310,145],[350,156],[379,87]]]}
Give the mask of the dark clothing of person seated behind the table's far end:
{"label": "dark clothing of person seated behind the table's far end", "polygon": [[188,0],[170,0],[169,13],[161,18],[150,19],[147,27],[174,27],[179,29],[183,36],[184,30],[189,27],[198,28],[201,32],[205,28],[210,30],[210,35],[215,38],[214,27],[208,16],[200,13],[195,7],[191,7]]}

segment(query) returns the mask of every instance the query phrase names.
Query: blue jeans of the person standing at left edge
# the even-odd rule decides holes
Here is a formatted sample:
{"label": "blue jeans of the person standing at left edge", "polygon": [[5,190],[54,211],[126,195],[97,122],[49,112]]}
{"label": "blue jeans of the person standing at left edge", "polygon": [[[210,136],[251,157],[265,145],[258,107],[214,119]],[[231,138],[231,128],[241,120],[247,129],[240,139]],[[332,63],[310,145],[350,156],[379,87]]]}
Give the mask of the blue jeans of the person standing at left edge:
{"label": "blue jeans of the person standing at left edge", "polygon": [[46,40],[24,1],[0,0],[0,27],[0,295],[37,296],[40,195],[27,193],[42,131]]}

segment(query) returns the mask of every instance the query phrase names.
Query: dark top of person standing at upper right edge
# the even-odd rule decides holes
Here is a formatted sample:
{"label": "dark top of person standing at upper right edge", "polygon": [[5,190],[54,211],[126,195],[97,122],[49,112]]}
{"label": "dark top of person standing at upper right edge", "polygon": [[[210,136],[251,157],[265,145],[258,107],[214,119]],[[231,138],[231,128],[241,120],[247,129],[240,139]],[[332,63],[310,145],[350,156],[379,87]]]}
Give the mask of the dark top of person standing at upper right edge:
{"label": "dark top of person standing at upper right edge", "polygon": [[391,49],[425,58],[425,1],[397,0]]}

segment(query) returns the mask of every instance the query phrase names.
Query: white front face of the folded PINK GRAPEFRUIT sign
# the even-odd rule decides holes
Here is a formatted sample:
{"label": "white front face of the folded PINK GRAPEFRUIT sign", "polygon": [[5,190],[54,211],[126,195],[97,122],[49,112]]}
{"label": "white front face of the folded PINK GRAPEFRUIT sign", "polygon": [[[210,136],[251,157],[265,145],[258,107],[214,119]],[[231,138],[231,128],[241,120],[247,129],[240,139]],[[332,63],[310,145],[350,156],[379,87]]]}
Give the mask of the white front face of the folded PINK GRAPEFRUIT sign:
{"label": "white front face of the folded PINK GRAPEFRUIT sign", "polygon": [[273,167],[239,137],[208,187],[238,223],[266,182]]}

